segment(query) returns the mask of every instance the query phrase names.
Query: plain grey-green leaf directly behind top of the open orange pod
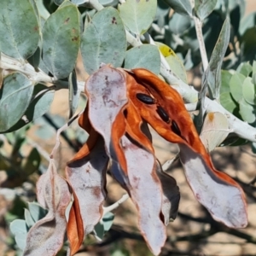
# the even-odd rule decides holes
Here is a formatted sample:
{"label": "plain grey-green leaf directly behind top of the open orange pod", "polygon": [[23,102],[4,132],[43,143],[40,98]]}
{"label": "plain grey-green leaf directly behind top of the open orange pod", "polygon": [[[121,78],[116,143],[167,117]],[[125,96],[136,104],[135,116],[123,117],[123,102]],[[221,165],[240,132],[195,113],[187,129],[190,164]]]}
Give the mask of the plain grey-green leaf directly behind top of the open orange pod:
{"label": "plain grey-green leaf directly behind top of the open orange pod", "polygon": [[155,74],[160,73],[160,52],[158,47],[143,44],[129,49],[125,55],[125,68],[143,67]]}

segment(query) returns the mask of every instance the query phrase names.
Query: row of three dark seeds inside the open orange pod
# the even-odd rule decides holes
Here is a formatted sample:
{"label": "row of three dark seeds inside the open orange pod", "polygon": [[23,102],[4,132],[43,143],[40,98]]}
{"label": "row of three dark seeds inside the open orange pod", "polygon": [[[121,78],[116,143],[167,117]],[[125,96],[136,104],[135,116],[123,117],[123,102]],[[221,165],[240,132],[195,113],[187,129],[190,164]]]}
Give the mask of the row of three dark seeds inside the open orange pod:
{"label": "row of three dark seeds inside the open orange pod", "polygon": [[[137,93],[137,99],[145,104],[153,105],[157,104],[155,99],[147,94],[144,93]],[[177,126],[177,123],[172,119],[170,119],[168,113],[166,113],[166,110],[162,108],[159,104],[156,106],[156,112],[159,114],[160,118],[166,122],[167,124],[172,122],[171,129],[174,133],[177,134],[177,136],[181,137],[181,132]]]}

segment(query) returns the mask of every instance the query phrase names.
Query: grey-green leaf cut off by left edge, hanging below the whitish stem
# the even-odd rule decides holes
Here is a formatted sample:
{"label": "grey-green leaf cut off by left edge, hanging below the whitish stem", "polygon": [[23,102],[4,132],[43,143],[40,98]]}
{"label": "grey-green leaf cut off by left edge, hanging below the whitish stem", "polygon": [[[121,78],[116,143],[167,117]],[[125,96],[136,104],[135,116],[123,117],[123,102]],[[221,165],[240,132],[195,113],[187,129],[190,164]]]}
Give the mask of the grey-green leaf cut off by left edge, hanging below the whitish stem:
{"label": "grey-green leaf cut off by left edge, hanging below the whitish stem", "polygon": [[11,73],[3,79],[0,90],[0,132],[15,125],[32,98],[33,84],[22,73]]}

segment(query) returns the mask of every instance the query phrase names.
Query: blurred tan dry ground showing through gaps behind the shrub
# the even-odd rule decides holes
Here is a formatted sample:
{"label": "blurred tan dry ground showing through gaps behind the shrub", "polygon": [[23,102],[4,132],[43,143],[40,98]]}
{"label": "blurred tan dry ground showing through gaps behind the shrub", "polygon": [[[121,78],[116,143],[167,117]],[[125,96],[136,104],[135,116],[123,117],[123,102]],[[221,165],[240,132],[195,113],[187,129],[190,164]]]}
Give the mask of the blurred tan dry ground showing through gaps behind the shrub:
{"label": "blurred tan dry ground showing through gaps behind the shrub", "polygon": [[[247,14],[254,10],[256,10],[256,1],[247,0]],[[191,81],[190,84],[195,85],[198,85],[201,82],[201,78],[196,76],[195,73],[189,73],[189,80]],[[67,98],[67,91],[57,91],[51,107],[51,112],[67,117]],[[154,148],[156,150],[156,156],[160,162],[164,163],[166,160],[172,159],[177,152],[176,146],[171,143],[166,143],[166,141],[155,134],[154,131],[153,134]],[[38,137],[36,137],[32,131],[29,133],[29,136],[34,140],[38,140]],[[45,148],[46,151],[50,152],[54,146],[55,140],[52,138],[48,141],[39,141],[39,143],[42,148]],[[57,164],[59,164],[62,171],[67,160],[70,160],[73,157],[73,154],[73,150],[68,147],[65,141],[63,141],[60,154],[57,156]],[[207,218],[207,212],[195,200],[195,197],[185,180],[183,169],[177,161],[169,173],[176,178],[181,191],[181,201],[179,206],[179,212],[181,212],[181,214],[168,226],[167,232],[170,239],[166,242],[166,246],[161,255],[256,255],[256,184],[253,184],[254,186],[249,184],[256,176],[255,155],[251,153],[251,149],[247,146],[241,146],[239,148],[226,147],[215,150],[212,154],[212,159],[218,170],[227,172],[230,176],[240,180],[243,189],[250,195],[247,197],[249,224],[246,229],[240,231],[247,235],[244,236],[244,238],[251,238],[252,242],[247,242],[246,239],[235,236],[237,235],[234,234],[235,230],[221,230],[212,236],[209,236],[210,224],[199,222],[201,218]],[[106,205],[119,200],[121,195],[125,194],[125,191],[120,189],[119,185],[115,183],[111,177],[108,177],[107,189],[108,200]],[[8,235],[8,230],[1,223],[3,223],[3,213],[8,206],[9,201],[1,200],[0,196],[0,256],[15,255],[14,251],[4,253],[6,249],[4,240]],[[113,232],[113,236],[119,236],[118,238],[120,238],[120,236],[126,236],[126,233],[119,231],[119,228],[130,233],[138,234],[137,211],[131,203],[131,200],[125,201],[125,203],[116,209],[114,213],[114,230],[116,230],[116,233]],[[195,219],[189,219],[188,216]],[[216,230],[222,229],[222,226],[219,226],[218,224],[212,224],[212,227]],[[133,238],[137,238],[137,236],[134,236]],[[140,239],[140,237],[138,238]],[[112,244],[108,244],[104,247],[88,246],[84,248],[84,252],[77,253],[76,255],[112,255],[110,253],[112,246]],[[136,239],[122,239],[115,241],[115,247],[125,247],[130,251],[130,255],[134,256],[152,255],[149,253],[144,242],[137,241]],[[115,256],[118,255],[116,254]]]}

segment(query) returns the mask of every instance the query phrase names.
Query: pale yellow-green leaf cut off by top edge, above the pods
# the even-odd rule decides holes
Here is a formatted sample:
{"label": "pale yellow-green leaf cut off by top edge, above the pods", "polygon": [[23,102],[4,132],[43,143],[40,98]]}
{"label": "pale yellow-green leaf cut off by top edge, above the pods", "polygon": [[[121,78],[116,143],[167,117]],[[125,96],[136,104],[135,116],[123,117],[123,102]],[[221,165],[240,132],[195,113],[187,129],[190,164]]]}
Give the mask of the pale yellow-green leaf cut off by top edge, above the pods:
{"label": "pale yellow-green leaf cut off by top edge, above the pods", "polygon": [[119,4],[119,14],[125,26],[136,34],[148,31],[156,15],[156,0],[127,0]]}

